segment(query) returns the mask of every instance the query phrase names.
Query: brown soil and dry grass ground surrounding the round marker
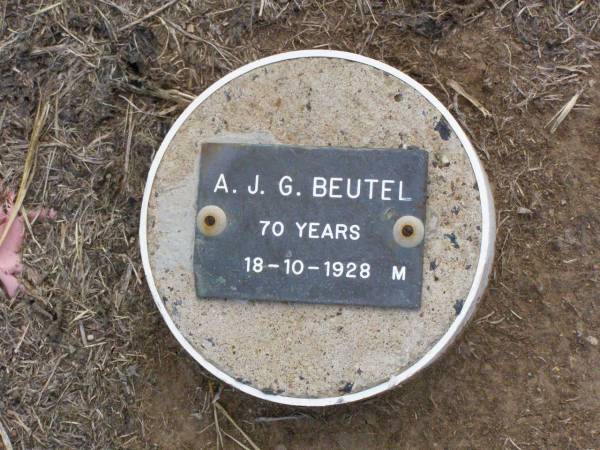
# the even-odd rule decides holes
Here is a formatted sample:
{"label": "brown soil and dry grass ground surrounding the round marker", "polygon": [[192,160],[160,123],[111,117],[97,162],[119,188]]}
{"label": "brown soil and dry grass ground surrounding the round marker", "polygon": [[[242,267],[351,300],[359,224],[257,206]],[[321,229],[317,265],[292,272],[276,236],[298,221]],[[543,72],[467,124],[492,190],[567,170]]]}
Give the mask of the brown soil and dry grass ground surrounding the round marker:
{"label": "brown soil and dry grass ground surrounding the round marker", "polygon": [[[393,392],[327,409],[212,379],[158,316],[137,242],[148,167],[190,99],[245,62],[314,47],[434,92],[498,215],[491,285],[457,344]],[[600,448],[599,55],[600,4],[585,0],[0,0],[0,194],[18,187],[42,102],[25,207],[59,212],[28,232],[23,291],[0,294],[8,440],[251,448],[228,414],[265,449]]]}

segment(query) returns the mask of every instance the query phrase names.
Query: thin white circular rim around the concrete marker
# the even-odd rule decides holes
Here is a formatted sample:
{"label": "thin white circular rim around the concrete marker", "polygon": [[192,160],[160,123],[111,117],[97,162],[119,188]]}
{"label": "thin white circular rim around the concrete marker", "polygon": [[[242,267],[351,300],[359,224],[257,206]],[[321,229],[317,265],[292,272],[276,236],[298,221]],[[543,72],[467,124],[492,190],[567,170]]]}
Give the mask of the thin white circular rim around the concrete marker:
{"label": "thin white circular rim around the concrete marker", "polygon": [[[335,396],[335,397],[324,397],[324,398],[301,398],[301,397],[288,397],[283,395],[276,394],[267,394],[255,387],[248,386],[244,383],[237,381],[232,376],[223,372],[221,369],[216,367],[211,362],[207,361],[181,334],[175,323],[173,322],[171,316],[167,312],[165,305],[160,297],[160,294],[156,288],[154,283],[154,277],[152,275],[152,268],[150,267],[150,259],[148,255],[148,245],[147,245],[147,218],[148,218],[148,202],[150,199],[150,194],[152,191],[152,185],[154,183],[154,178],[158,171],[158,167],[160,166],[163,155],[169,148],[173,137],[179,131],[179,128],[185,123],[187,118],[192,114],[192,112],[202,104],[209,96],[211,96],[215,91],[225,86],[227,83],[232,80],[252,71],[258,69],[263,66],[267,66],[269,64],[274,64],[282,61],[288,61],[299,58],[333,58],[333,59],[343,59],[347,61],[352,61],[360,64],[365,64],[367,66],[371,66],[375,69],[382,70],[387,74],[399,79],[400,81],[406,83],[411,88],[415,89],[419,94],[421,94],[425,99],[433,105],[446,119],[450,128],[456,133],[456,136],[459,138],[464,151],[466,152],[469,162],[471,163],[471,167],[475,174],[475,179],[477,180],[477,186],[479,188],[480,193],[480,201],[481,201],[481,247],[479,251],[479,260],[477,262],[477,269],[475,271],[475,275],[473,277],[473,283],[469,290],[469,294],[463,304],[460,314],[456,317],[456,319],[452,322],[448,330],[444,333],[444,335],[425,353],[423,354],[417,361],[413,364],[402,370],[399,374],[390,377],[387,381],[378,384],[376,386],[370,387],[368,389]],[[183,348],[194,358],[198,363],[200,363],[206,370],[208,370],[211,374],[224,381],[225,383],[239,389],[246,394],[250,394],[254,397],[258,397],[263,400],[268,400],[275,403],[281,403],[285,405],[294,405],[294,406],[328,406],[328,405],[336,405],[336,404],[345,404],[358,400],[363,400],[374,395],[385,392],[389,389],[392,389],[406,380],[414,376],[417,372],[423,370],[431,363],[433,363],[439,356],[441,356],[444,351],[452,345],[456,337],[460,334],[462,329],[468,323],[469,319],[475,312],[477,304],[479,300],[483,296],[485,292],[485,288],[488,283],[489,275],[492,268],[492,263],[494,260],[494,242],[496,237],[496,218],[494,211],[494,200],[492,197],[492,192],[490,189],[490,185],[483,170],[483,166],[475,149],[471,145],[467,135],[462,130],[456,119],[450,114],[450,112],[446,109],[446,107],[424,86],[422,86],[417,81],[410,78],[408,75],[403,72],[395,69],[383,62],[377,61],[375,59],[367,58],[362,55],[357,55],[354,53],[341,52],[335,50],[300,50],[294,52],[280,53],[277,55],[269,56],[266,58],[262,58],[256,61],[253,61],[245,66],[240,67],[237,70],[227,74],[220,80],[213,83],[209,86],[204,92],[202,92],[196,99],[183,111],[183,113],[177,118],[167,135],[165,136],[163,142],[161,143],[154,160],[152,161],[152,165],[150,166],[150,170],[148,172],[148,178],[146,179],[146,186],[144,188],[144,196],[142,200],[142,209],[140,214],[140,252],[142,256],[142,265],[144,267],[144,272],[146,275],[146,280],[148,282],[148,286],[150,288],[150,292],[152,293],[152,297],[154,298],[154,302],[166,322],[167,326],[171,330],[171,333],[175,336],[175,338],[179,341],[179,343],[183,346]]]}

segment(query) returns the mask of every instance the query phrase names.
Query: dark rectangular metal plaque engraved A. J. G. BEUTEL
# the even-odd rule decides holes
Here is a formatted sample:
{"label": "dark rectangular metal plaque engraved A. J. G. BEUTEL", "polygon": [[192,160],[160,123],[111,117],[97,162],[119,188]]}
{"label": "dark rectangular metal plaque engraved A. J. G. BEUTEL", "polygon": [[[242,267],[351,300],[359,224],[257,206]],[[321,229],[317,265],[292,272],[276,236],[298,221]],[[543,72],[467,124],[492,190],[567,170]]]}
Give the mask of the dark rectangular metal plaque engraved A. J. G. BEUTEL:
{"label": "dark rectangular metal plaque engraved A. J. G. BEUTEL", "polygon": [[423,243],[393,227],[425,222],[426,151],[220,143],[200,159],[198,211],[226,226],[196,227],[199,298],[420,307]]}

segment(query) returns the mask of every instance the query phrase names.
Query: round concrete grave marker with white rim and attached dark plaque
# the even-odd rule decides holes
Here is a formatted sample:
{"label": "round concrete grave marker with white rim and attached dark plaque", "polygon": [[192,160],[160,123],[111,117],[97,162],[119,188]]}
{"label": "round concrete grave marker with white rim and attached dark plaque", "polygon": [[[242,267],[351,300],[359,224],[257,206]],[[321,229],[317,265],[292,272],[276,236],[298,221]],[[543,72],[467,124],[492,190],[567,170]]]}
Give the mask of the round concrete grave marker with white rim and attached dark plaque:
{"label": "round concrete grave marker with white rim and attached dark plaque", "polygon": [[140,245],[171,332],[208,371],[293,405],[355,401],[435,360],[493,259],[465,133],[423,86],[350,53],[248,64],[156,155]]}

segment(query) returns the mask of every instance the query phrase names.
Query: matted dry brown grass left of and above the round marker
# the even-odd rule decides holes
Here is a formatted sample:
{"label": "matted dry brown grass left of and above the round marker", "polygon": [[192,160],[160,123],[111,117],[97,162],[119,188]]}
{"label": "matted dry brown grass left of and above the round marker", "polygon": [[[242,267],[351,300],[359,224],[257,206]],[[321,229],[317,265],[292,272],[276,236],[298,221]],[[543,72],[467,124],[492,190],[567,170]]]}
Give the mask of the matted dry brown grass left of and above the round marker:
{"label": "matted dry brown grass left of and above the round marker", "polygon": [[[458,78],[445,62],[468,67],[485,55],[475,55],[475,45],[473,56],[449,56],[444,43],[482,21],[510,39],[497,43],[504,56],[489,62],[494,69],[485,68],[474,92],[471,71]],[[162,137],[211,82],[260,56],[321,47],[382,59],[433,89],[497,169],[494,286],[502,292],[519,247],[532,239],[515,211],[535,212],[543,202],[534,189],[539,172],[527,165],[537,158],[527,153],[534,133],[519,122],[527,114],[545,122],[560,117],[576,96],[563,128],[589,104],[599,21],[595,1],[0,2],[0,193],[18,186],[36,107],[47,102],[25,205],[59,211],[57,221],[35,225],[28,237],[27,294],[0,294],[0,423],[14,447],[151,445],[138,388],[149,383],[142,368],[156,351],[149,336],[160,324],[142,279],[139,205]],[[469,102],[451,97],[453,79]],[[511,308],[524,315],[503,301],[496,308],[504,305],[508,319],[492,311],[488,321],[486,311],[483,325],[517,321]],[[206,388],[204,380],[198,385]],[[257,448],[252,433],[236,425],[236,411],[214,405],[212,447],[227,438]],[[393,407],[402,410],[401,403]],[[581,439],[582,446],[590,442]],[[522,445],[514,435],[504,441]]]}

